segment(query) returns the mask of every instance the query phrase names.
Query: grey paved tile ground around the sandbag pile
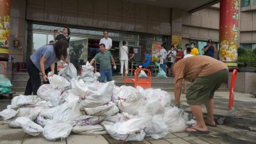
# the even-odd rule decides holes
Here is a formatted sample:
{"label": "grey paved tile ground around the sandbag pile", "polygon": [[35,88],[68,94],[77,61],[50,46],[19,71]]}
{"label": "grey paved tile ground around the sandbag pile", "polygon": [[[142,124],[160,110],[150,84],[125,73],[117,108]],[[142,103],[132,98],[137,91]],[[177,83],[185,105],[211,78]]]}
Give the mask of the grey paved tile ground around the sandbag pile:
{"label": "grey paved tile ground around the sandbag pile", "polygon": [[[173,93],[171,93],[173,98]],[[182,108],[187,108],[186,97],[182,95]],[[228,93],[219,92],[215,95],[216,109],[227,109]],[[0,110],[10,104],[10,99],[0,99]],[[186,132],[168,134],[165,138],[153,140],[146,137],[143,141],[127,141],[130,144],[252,144],[256,143],[256,98],[249,94],[235,94],[235,116],[226,118],[223,125],[209,127],[209,134],[188,134]],[[29,136],[21,129],[10,129],[8,125],[0,121],[0,144],[116,144],[123,141],[114,140],[108,134],[103,136],[84,136],[70,134],[67,140],[47,141],[43,136]]]}

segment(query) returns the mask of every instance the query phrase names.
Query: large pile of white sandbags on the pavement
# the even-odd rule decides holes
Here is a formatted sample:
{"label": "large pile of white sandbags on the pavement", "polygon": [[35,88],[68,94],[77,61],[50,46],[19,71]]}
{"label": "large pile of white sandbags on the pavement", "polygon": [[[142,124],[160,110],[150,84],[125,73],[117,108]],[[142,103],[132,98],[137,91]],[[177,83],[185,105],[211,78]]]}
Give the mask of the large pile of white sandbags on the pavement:
{"label": "large pile of white sandbags on the pavement", "polygon": [[90,63],[83,66],[81,77],[70,72],[72,67],[67,65],[61,76],[49,77],[50,84],[40,86],[37,95],[14,97],[0,112],[4,122],[32,136],[42,133],[51,141],[63,140],[70,132],[141,141],[186,129],[188,116],[170,106],[169,93],[116,86],[114,81],[90,83],[88,77],[95,80]]}

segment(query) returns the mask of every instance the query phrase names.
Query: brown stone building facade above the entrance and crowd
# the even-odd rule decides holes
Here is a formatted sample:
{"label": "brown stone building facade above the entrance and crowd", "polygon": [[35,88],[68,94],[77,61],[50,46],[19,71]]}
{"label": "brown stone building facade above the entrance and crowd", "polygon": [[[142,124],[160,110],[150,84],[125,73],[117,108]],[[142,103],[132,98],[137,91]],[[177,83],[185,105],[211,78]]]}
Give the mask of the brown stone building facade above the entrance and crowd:
{"label": "brown stone building facade above the entrance and crowd", "polygon": [[[240,44],[244,49],[255,49],[256,1],[240,3]],[[114,49],[125,40],[130,46],[140,46],[140,54],[154,44],[169,47],[173,36],[181,36],[183,47],[196,42],[200,54],[208,39],[219,42],[218,1],[189,11],[182,10],[182,4],[170,8],[130,0],[11,0],[10,4],[9,54],[19,62],[48,44],[53,30],[64,26],[70,27],[72,40],[86,39],[88,50],[103,37],[104,30],[109,31]],[[14,40],[19,40],[19,47],[13,47]]]}

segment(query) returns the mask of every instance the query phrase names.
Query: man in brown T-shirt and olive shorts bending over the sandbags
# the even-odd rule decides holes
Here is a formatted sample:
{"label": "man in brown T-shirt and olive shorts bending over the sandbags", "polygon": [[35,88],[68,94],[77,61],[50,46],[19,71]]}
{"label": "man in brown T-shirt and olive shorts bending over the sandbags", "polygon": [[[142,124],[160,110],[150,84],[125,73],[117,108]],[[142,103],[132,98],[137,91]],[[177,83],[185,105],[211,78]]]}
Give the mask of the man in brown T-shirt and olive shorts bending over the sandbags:
{"label": "man in brown T-shirt and olive shorts bending over the sandbags", "polygon": [[[196,63],[196,65],[195,65]],[[196,125],[188,127],[189,133],[209,133],[207,126],[216,127],[214,122],[214,92],[228,77],[228,67],[222,61],[209,56],[191,56],[174,65],[175,106],[180,106],[182,79],[191,82],[186,93],[187,103],[196,118]],[[207,118],[202,114],[202,104],[207,109]]]}

